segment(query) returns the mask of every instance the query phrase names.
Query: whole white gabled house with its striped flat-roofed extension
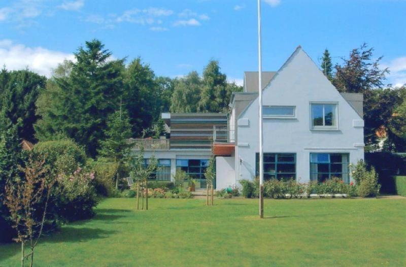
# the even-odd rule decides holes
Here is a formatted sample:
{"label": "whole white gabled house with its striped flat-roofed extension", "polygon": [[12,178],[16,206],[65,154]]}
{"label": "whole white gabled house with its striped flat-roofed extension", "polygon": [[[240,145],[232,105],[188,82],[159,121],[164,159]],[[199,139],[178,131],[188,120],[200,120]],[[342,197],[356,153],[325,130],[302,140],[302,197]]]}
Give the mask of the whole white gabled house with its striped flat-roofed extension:
{"label": "whole white gabled house with its striped flat-roofed extension", "polygon": [[[362,94],[340,93],[298,47],[277,72],[263,72],[264,179],[351,181],[349,164],[364,158]],[[246,72],[244,91],[232,94],[229,113],[162,114],[168,139],[138,140],[154,154],[155,179],[177,170],[206,186],[216,156],[216,187],[239,186],[258,175],[258,73]],[[149,142],[149,143],[148,143]],[[134,149],[137,149],[134,146]]]}

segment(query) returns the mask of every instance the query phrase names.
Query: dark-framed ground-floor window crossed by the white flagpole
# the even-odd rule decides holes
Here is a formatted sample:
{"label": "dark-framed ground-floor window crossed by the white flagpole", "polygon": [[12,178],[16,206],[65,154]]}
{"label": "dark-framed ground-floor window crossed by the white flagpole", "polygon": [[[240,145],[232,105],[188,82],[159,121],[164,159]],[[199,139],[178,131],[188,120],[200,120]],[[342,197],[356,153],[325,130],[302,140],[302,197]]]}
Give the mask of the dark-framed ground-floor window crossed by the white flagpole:
{"label": "dark-framed ground-floor window crossed by the white flagpole", "polygon": [[[259,176],[259,153],[256,153],[256,175]],[[263,179],[295,180],[296,154],[263,153]]]}

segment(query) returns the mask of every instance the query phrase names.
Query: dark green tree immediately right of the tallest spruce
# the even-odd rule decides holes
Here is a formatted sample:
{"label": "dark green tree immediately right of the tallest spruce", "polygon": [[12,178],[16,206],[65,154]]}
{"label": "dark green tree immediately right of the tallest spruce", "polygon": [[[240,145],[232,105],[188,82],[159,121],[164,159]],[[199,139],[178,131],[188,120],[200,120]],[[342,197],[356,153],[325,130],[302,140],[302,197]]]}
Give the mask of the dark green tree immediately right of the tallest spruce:
{"label": "dark green tree immediately right of the tallest spruce", "polygon": [[134,136],[152,126],[159,117],[160,94],[155,74],[141,58],[134,59],[125,72],[125,107],[128,110]]}

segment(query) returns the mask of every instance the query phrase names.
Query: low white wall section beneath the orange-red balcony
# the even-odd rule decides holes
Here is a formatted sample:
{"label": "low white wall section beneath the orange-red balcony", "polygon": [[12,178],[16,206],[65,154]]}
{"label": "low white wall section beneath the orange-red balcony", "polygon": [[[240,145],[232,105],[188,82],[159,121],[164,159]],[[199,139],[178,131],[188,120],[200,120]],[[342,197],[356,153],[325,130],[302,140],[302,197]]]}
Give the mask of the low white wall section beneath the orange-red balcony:
{"label": "low white wall section beneath the orange-red balcony", "polygon": [[216,157],[216,190],[235,185],[234,157]]}

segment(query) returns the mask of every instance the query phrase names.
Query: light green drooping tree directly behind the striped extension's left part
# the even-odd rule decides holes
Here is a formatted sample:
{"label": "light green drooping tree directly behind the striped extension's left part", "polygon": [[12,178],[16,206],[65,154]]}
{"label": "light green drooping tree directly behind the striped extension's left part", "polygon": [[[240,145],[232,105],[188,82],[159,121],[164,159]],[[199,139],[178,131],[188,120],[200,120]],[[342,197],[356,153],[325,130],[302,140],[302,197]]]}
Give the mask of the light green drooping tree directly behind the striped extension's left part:
{"label": "light green drooping tree directly behind the striped extension's left part", "polygon": [[171,112],[197,112],[201,85],[201,79],[195,71],[179,79],[175,83],[174,93],[172,94]]}

